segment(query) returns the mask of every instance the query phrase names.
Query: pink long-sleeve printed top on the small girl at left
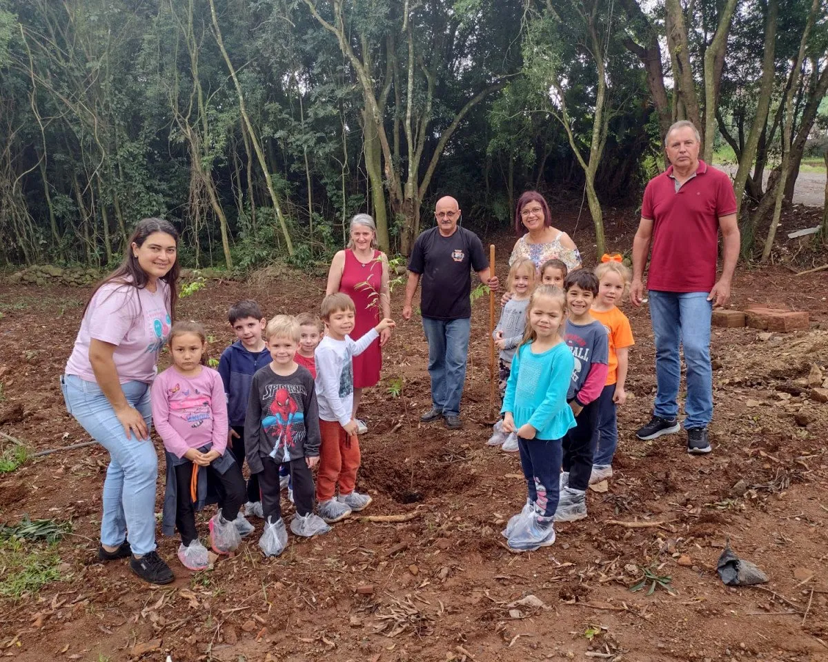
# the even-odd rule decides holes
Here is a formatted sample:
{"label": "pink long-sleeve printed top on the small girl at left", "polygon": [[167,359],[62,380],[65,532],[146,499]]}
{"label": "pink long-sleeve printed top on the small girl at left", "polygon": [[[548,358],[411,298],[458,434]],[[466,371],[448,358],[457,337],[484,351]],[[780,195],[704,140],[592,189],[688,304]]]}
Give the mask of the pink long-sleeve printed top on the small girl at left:
{"label": "pink long-sleeve printed top on the small girl at left", "polygon": [[188,449],[213,442],[213,450],[227,448],[227,397],[221,376],[202,366],[194,377],[185,377],[170,366],[152,382],[152,425],[164,448],[177,457]]}

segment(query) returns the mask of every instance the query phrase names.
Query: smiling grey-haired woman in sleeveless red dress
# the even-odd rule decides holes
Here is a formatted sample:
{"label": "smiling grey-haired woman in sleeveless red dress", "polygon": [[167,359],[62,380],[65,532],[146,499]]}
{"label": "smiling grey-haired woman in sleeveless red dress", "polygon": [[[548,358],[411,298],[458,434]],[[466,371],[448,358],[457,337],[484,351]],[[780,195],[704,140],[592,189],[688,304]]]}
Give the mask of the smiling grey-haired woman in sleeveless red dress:
{"label": "smiling grey-haired woman in sleeveless red dress", "polygon": [[[325,295],[344,292],[354,300],[356,316],[351,338],[357,339],[375,327],[381,317],[391,317],[388,290],[388,257],[377,250],[377,226],[367,213],[351,219],[351,239],[330,263]],[[358,357],[354,357],[354,420],[357,433],[365,434],[368,426],[357,418],[363,389],[376,386],[383,367],[381,348],[391,337],[391,329],[383,330],[379,339]]]}

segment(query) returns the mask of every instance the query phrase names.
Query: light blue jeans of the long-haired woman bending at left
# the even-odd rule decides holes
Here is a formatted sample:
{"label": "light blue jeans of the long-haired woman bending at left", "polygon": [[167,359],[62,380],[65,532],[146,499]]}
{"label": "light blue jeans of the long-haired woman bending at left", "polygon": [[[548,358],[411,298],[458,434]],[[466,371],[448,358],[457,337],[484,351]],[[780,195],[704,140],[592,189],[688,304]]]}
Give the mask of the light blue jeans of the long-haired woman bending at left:
{"label": "light blue jeans of the long-haired woman bending at left", "polygon": [[[150,387],[142,381],[122,384],[123,395],[147,426],[152,425]],[[60,377],[66,410],[89,435],[109,451],[103,481],[101,543],[117,547],[129,540],[132,554],[142,556],[156,549],[155,499],[158,456],[150,439],[137,439],[123,431],[112,405],[94,381],[76,375]]]}

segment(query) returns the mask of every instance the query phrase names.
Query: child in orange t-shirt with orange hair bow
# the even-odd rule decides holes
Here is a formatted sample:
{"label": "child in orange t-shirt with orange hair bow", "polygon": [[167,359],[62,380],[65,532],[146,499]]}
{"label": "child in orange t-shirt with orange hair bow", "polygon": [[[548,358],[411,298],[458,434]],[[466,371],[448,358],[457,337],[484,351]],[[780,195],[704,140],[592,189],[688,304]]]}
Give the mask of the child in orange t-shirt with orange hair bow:
{"label": "child in orange t-shirt with orange hair bow", "polygon": [[623,298],[630,278],[621,256],[604,255],[601,264],[595,267],[595,276],[598,277],[599,289],[590,312],[609,331],[609,373],[598,399],[598,425],[595,428],[598,443],[595,445],[590,484],[613,475],[613,455],[619,443],[615,408],[627,401],[624,385],[627,381],[629,348],[635,344],[629,319],[616,305]]}

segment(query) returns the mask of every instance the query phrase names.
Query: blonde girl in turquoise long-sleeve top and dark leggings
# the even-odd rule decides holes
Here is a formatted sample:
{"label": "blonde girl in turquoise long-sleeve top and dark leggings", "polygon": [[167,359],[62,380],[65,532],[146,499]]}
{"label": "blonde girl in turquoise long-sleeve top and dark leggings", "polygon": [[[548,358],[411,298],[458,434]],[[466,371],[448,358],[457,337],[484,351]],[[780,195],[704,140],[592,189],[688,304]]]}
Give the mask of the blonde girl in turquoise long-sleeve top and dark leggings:
{"label": "blonde girl in turquoise long-sleeve top and dark leggings", "polygon": [[561,474],[561,438],[575,427],[566,404],[572,353],[563,342],[566,295],[551,285],[532,293],[527,330],[512,362],[503,398],[503,431],[517,433],[528,500],[509,520],[503,535],[515,551],[533,551],[555,542],[555,511]]}

